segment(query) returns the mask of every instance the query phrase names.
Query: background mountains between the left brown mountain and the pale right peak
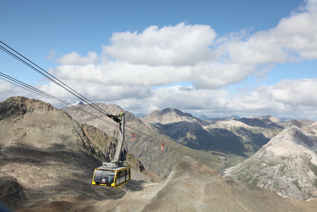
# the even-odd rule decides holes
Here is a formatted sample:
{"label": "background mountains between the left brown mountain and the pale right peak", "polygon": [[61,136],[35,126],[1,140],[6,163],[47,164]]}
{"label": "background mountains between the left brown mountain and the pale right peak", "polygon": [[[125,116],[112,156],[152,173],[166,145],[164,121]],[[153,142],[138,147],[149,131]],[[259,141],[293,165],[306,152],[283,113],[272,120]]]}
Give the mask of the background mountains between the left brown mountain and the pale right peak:
{"label": "background mountains between the left brown mountain and the pale right peak", "polygon": [[[122,108],[117,105],[94,104],[108,113],[118,114],[122,111]],[[89,105],[77,106],[90,113],[95,113],[104,119],[108,118],[100,112],[93,111]],[[71,108],[65,107],[61,108],[61,110],[66,111],[80,123],[92,125],[107,134],[116,136],[116,129],[108,124],[83,115]],[[284,129],[283,125],[273,123],[269,119],[262,119],[262,126],[259,123],[258,126],[249,126],[243,123],[246,120],[250,120],[251,122],[253,119],[241,121],[224,119],[207,122],[192,116],[190,113],[183,113],[180,110],[170,108],[155,110],[141,119],[133,116],[128,111],[124,112],[126,123],[129,126],[146,134],[153,135],[156,139],[165,142],[167,145],[176,147],[175,149],[170,148],[169,151],[159,156],[161,161],[165,161],[161,164],[158,160],[153,160],[149,156],[149,153],[144,154],[145,150],[150,151],[151,154],[159,151],[160,144],[151,142],[152,138],[147,140],[142,136],[136,136],[136,140],[126,143],[125,148],[128,152],[138,158],[146,169],[158,174],[162,178],[165,178],[169,174],[175,160],[185,155],[191,155],[196,159],[199,157],[204,164],[211,168],[216,168],[220,165],[218,161],[219,155],[227,155],[227,157],[233,159],[228,161],[227,164],[236,165],[237,161],[252,156],[258,149]],[[127,133],[126,137],[131,137],[131,133]],[[176,154],[176,152],[178,153]],[[179,154],[179,152],[182,154]]]}

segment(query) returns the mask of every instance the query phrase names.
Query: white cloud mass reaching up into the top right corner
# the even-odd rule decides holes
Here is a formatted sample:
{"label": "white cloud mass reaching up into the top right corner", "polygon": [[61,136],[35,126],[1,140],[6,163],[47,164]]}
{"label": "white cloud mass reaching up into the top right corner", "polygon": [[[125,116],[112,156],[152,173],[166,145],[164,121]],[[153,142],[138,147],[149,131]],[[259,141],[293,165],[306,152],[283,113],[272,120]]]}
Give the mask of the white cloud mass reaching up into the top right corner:
{"label": "white cloud mass reaching up into the top right corner", "polygon": [[303,12],[292,12],[268,31],[246,36],[242,30],[219,39],[223,43],[216,49],[218,57],[225,56],[227,62],[241,64],[317,59],[316,5],[316,1],[307,1]]}

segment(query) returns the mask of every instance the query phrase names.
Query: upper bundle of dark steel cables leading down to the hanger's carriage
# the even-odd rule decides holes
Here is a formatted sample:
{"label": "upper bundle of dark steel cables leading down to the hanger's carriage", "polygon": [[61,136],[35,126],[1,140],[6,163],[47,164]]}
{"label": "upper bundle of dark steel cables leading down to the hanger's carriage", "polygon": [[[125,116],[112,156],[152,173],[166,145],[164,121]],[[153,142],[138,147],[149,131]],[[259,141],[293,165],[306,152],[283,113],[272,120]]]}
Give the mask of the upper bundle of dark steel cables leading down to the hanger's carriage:
{"label": "upper bundle of dark steel cables leading down to the hanger's carriage", "polygon": [[[19,54],[20,56],[22,56],[23,58],[25,58],[23,55],[21,55],[19,52],[15,51],[14,49],[12,49],[10,46],[8,46],[7,44],[3,43],[2,41],[0,41],[2,44],[6,45],[8,48],[10,48],[11,50],[13,50],[14,52],[16,52],[17,54]],[[3,49],[5,49],[3,46],[0,45],[0,47],[2,47]],[[32,67],[32,69],[36,70],[36,72],[42,74],[43,76],[45,76],[47,79],[51,80],[52,82],[54,82],[56,85],[59,85],[60,87],[62,87],[63,89],[65,89],[66,91],[70,92],[71,94],[73,94],[74,96],[76,96],[77,98],[81,99],[82,101],[86,102],[87,104],[91,105],[92,107],[94,107],[96,110],[100,111],[100,113],[104,113],[105,115],[109,115],[109,113],[107,113],[106,111],[102,110],[99,106],[95,105],[93,102],[89,101],[88,99],[86,99],[85,97],[83,97],[81,94],[79,94],[78,92],[74,91],[72,88],[70,88],[68,85],[64,84],[63,82],[61,82],[59,79],[55,78],[54,76],[52,76],[51,74],[49,74],[48,72],[46,72],[45,70],[43,70],[41,67],[39,67],[38,65],[36,65],[35,63],[33,63],[32,61],[30,61],[28,58],[25,58],[26,60],[28,60],[30,63],[32,63],[33,65],[35,65],[36,67],[38,67],[39,69],[41,69],[43,72],[49,74],[49,76],[53,77],[54,79],[56,79],[58,82],[56,82],[54,79],[50,78],[49,76],[47,76],[46,74],[42,73],[41,71],[39,71],[37,68],[35,68],[34,66],[30,65],[29,63],[25,62],[23,59],[19,58],[18,56],[16,56],[14,53],[10,52],[9,50],[5,49],[5,52],[8,53],[9,55],[13,56],[14,58],[20,60],[21,62],[23,61],[24,64],[27,64],[29,67]],[[62,85],[61,85],[61,84]],[[66,87],[64,87],[63,85],[65,85]],[[76,95],[76,94],[78,95]],[[94,106],[93,106],[94,105]],[[97,108],[99,109],[97,109]]]}

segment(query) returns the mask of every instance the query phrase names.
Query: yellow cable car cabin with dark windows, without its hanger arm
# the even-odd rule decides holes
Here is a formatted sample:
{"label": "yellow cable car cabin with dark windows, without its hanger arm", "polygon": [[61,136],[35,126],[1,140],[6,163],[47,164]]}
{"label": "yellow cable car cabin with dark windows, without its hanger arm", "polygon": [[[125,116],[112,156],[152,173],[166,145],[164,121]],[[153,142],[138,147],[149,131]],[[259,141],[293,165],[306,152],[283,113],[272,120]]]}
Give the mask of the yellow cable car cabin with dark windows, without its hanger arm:
{"label": "yellow cable car cabin with dark windows, without its hanger arm", "polygon": [[92,184],[118,188],[130,180],[130,167],[117,166],[116,168],[95,168]]}

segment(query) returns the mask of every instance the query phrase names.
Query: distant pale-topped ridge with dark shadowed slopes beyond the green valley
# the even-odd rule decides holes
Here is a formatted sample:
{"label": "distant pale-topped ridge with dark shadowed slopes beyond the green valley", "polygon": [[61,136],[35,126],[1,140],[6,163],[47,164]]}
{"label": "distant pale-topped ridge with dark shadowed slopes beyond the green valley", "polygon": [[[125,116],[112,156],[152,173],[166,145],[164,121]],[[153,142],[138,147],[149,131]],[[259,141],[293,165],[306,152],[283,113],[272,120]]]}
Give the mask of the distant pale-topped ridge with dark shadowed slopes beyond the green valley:
{"label": "distant pale-topped ridge with dark shadowed slopes beyond the green valley", "polygon": [[171,139],[191,149],[210,153],[213,161],[218,159],[219,154],[227,155],[232,164],[236,162],[232,158],[240,160],[252,156],[284,129],[283,125],[268,118],[237,120],[232,117],[207,122],[188,114],[183,117],[182,113],[176,114],[171,109],[156,110],[152,116],[150,114],[142,120],[152,123]]}

